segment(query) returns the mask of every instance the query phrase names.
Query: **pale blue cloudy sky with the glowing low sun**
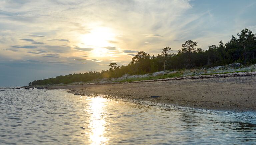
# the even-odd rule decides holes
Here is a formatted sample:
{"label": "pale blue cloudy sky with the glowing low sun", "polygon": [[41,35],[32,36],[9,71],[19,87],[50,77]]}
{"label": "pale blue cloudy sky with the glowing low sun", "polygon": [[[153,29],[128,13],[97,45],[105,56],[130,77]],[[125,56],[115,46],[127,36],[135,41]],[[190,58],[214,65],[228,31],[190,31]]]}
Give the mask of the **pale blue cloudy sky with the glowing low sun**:
{"label": "pale blue cloudy sky with the glowing low sun", "polygon": [[256,33],[255,0],[0,0],[0,86],[128,64],[139,51]]}

